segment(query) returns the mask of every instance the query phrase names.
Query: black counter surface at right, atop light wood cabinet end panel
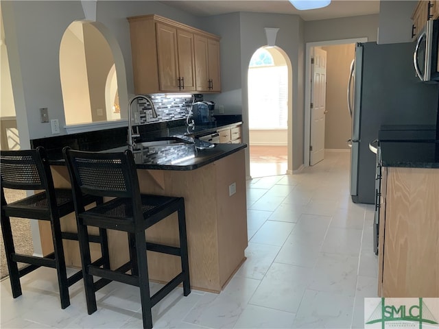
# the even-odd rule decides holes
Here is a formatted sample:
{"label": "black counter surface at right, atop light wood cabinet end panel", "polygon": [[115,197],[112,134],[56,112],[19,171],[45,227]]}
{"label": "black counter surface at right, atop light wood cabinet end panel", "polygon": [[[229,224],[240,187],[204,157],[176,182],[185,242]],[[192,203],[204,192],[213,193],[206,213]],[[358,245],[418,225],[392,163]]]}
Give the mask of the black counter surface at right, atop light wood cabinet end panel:
{"label": "black counter surface at right, atop light wood cabinet end panel", "polygon": [[436,127],[383,126],[378,136],[383,167],[439,169],[439,140],[436,139]]}

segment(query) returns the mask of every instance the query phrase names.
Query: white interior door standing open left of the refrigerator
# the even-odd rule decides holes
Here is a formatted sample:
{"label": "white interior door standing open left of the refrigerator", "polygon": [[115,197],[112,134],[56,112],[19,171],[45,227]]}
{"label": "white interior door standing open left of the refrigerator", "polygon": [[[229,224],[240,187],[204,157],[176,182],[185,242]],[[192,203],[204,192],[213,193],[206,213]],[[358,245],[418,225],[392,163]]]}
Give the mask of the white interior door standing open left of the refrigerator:
{"label": "white interior door standing open left of the refrigerator", "polygon": [[311,136],[309,146],[309,165],[320,162],[324,158],[324,116],[327,93],[327,52],[313,49],[311,62]]}

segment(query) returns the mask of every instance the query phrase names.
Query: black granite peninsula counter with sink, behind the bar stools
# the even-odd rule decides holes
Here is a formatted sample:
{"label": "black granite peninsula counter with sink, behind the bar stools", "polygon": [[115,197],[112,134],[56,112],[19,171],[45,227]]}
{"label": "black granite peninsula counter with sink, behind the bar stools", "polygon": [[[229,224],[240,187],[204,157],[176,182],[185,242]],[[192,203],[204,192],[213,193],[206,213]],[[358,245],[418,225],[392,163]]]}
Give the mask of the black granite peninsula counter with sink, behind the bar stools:
{"label": "black granite peninsula counter with sink, behind the bar stools", "polygon": [[[214,123],[196,125],[195,127],[188,127],[183,121],[180,124],[176,122],[171,125],[169,123],[167,125],[161,123],[156,125],[157,129],[151,129],[152,126],[147,127],[145,125],[141,128],[150,129],[141,131],[141,141],[154,141],[172,136],[193,141],[193,138],[198,136],[211,134],[228,127],[236,127],[242,123],[240,119],[240,116],[225,116]],[[80,149],[82,151],[123,151],[127,148],[126,127],[75,135],[34,140],[32,141],[32,146],[44,146],[47,149],[51,165],[64,165],[64,160],[62,159],[62,148],[64,146],[70,146],[72,149]],[[198,169],[246,147],[246,144],[215,144],[215,147],[209,149],[198,149],[193,143],[176,146],[162,145],[150,147],[147,150],[144,149],[142,155],[140,153],[135,154],[134,158],[139,169],[185,171]]]}

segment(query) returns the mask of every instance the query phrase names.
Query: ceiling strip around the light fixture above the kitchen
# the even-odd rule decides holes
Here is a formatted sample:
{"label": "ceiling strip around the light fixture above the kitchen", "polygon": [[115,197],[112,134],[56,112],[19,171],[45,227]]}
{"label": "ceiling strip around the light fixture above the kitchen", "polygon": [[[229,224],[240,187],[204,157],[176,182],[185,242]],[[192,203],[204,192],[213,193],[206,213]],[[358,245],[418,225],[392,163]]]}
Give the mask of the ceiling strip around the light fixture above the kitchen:
{"label": "ceiling strip around the light fixture above the kitchen", "polygon": [[195,16],[212,16],[230,12],[266,12],[271,14],[299,15],[304,21],[337,19],[379,13],[379,0],[332,0],[326,8],[315,10],[296,10],[287,0],[165,0],[160,1],[174,8],[190,12]]}

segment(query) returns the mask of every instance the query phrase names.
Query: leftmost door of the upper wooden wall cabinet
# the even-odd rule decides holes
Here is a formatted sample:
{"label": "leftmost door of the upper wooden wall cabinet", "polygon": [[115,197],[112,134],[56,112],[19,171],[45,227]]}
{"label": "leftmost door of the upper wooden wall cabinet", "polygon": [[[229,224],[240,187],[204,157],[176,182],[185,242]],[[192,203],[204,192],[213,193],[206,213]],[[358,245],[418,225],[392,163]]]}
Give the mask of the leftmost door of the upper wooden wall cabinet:
{"label": "leftmost door of the upper wooden wall cabinet", "polygon": [[158,80],[161,91],[180,91],[178,86],[177,30],[156,23]]}

